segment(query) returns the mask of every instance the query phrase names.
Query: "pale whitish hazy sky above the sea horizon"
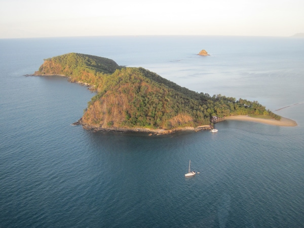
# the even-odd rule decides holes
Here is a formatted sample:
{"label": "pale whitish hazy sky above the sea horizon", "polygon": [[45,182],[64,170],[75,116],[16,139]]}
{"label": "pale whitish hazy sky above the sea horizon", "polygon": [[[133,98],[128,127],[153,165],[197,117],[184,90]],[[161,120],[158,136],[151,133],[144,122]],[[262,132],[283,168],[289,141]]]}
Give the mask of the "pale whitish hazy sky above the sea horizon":
{"label": "pale whitish hazy sky above the sea horizon", "polygon": [[303,0],[0,0],[0,39],[302,32]]}

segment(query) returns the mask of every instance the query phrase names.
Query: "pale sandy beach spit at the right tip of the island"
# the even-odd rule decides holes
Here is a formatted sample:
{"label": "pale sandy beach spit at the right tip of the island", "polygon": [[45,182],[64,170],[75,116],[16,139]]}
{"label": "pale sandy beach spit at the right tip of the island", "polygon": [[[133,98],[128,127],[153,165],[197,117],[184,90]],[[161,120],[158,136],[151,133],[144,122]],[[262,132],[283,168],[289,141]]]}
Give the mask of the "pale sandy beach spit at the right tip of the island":
{"label": "pale sandy beach spit at the right tip of the island", "polygon": [[284,117],[281,117],[280,121],[273,119],[253,118],[249,116],[230,116],[230,117],[225,117],[225,120],[249,121],[249,122],[256,122],[256,123],[283,126],[283,127],[297,126],[297,123],[295,121]]}

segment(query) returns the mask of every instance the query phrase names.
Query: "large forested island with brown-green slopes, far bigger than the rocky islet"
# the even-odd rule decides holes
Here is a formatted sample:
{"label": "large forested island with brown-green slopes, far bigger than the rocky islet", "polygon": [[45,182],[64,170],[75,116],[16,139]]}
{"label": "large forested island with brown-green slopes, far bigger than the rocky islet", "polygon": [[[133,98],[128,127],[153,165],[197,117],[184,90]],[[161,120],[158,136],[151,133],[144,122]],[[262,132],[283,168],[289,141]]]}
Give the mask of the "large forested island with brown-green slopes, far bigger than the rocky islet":
{"label": "large forested island with brown-green slopes, far bigger than the rocky islet", "polygon": [[48,58],[33,75],[61,75],[70,82],[90,86],[96,95],[74,124],[93,131],[199,131],[240,116],[283,123],[280,116],[257,101],[198,93],[142,67],[119,66],[98,56],[68,53]]}

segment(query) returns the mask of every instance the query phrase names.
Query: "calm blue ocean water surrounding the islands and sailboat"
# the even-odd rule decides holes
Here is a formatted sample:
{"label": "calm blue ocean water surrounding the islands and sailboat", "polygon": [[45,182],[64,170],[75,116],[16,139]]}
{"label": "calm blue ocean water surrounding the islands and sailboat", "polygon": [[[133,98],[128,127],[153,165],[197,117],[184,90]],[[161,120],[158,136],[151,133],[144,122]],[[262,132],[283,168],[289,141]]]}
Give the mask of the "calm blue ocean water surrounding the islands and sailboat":
{"label": "calm blue ocean water surrounding the islands and sailboat", "polygon": [[[94,93],[24,76],[69,52],[257,100],[298,126],[225,121],[157,137],[71,126]],[[303,227],[303,62],[304,39],[292,37],[0,40],[0,227]]]}

